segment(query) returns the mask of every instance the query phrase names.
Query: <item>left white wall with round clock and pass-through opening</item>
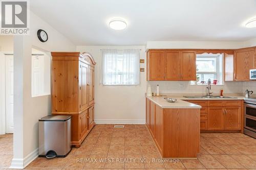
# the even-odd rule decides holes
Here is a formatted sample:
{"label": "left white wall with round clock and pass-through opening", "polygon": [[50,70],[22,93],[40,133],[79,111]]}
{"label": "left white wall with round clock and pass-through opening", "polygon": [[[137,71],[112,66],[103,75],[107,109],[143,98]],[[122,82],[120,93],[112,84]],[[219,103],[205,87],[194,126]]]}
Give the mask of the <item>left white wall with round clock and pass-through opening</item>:
{"label": "left white wall with round clock and pass-through opening", "polygon": [[[30,35],[14,37],[14,151],[11,167],[22,168],[37,156],[38,119],[51,113],[51,95],[31,97],[31,50],[75,51],[75,45],[47,22],[30,13]],[[37,30],[48,33],[41,42]]]}

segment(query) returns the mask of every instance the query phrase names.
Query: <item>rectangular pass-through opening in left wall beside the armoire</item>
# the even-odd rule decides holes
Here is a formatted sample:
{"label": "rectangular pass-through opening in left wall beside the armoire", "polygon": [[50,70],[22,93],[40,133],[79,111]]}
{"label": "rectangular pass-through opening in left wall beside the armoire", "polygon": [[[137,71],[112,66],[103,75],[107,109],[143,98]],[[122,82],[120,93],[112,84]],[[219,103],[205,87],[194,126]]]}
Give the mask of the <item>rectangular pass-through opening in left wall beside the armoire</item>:
{"label": "rectangular pass-through opening in left wall beside the armoire", "polygon": [[[51,59],[42,52],[32,50],[31,94],[32,97],[49,95],[51,91]],[[34,53],[34,54],[33,54]]]}

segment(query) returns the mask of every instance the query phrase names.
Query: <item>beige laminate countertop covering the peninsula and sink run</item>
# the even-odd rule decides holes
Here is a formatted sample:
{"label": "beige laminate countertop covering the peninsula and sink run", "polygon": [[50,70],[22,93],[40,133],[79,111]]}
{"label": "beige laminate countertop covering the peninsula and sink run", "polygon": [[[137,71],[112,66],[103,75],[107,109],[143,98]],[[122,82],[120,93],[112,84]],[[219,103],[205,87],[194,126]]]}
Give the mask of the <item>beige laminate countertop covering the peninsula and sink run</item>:
{"label": "beige laminate countertop covering the peninsula and sink run", "polygon": [[[230,95],[229,95],[230,96]],[[200,109],[202,108],[199,105],[193,104],[193,103],[189,103],[186,101],[189,100],[244,100],[244,96],[231,96],[231,97],[235,97],[234,98],[221,98],[221,99],[209,99],[209,98],[184,98],[183,96],[177,96],[177,95],[161,95],[161,96],[146,96],[145,97],[149,100],[151,100],[152,102],[154,102],[156,105],[160,106],[161,108],[164,109],[177,109],[177,108],[191,108],[191,109]],[[175,98],[177,99],[177,101],[175,103],[169,103],[167,102],[164,98]],[[184,101],[186,100],[186,101]]]}

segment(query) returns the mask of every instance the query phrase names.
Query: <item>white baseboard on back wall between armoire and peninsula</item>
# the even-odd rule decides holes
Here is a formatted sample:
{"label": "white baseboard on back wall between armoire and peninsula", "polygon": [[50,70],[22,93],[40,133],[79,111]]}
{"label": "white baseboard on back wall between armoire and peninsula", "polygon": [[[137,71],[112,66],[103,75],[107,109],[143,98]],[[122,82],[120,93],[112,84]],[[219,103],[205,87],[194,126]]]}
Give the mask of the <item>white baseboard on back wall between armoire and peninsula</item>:
{"label": "white baseboard on back wall between armoire and peninsula", "polygon": [[95,119],[96,124],[145,124],[144,119]]}

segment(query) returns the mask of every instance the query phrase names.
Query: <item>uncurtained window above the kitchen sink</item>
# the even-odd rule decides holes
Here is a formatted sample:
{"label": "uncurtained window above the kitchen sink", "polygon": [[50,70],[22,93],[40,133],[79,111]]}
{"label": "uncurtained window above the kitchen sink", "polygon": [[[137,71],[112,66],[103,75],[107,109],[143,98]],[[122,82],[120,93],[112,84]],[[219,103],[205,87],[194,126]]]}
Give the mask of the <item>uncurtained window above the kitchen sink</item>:
{"label": "uncurtained window above the kitchen sink", "polygon": [[196,84],[205,84],[208,79],[222,84],[222,55],[197,55]]}

